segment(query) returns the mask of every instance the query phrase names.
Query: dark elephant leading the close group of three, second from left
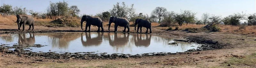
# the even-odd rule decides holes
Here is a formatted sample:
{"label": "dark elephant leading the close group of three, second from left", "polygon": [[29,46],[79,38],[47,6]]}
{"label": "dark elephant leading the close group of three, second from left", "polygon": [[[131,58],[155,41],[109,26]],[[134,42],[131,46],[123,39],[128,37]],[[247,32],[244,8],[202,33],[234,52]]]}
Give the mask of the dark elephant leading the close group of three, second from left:
{"label": "dark elephant leading the close group of three, second from left", "polygon": [[89,30],[91,31],[91,25],[93,26],[98,26],[98,30],[97,32],[100,32],[100,27],[101,27],[101,32],[104,31],[103,26],[102,26],[102,20],[100,19],[100,17],[92,17],[89,15],[84,15],[81,19],[81,29],[83,30],[83,22],[86,21],[86,25],[85,25],[85,32],[87,31],[87,27],[89,26]]}

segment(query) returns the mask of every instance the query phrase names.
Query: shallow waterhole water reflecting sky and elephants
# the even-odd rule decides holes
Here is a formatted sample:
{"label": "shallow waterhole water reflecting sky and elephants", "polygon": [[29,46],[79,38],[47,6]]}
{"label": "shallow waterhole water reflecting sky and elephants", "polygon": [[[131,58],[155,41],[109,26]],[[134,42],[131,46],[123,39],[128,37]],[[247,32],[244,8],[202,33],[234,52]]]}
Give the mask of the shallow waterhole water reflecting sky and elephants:
{"label": "shallow waterhole water reflecting sky and elephants", "polygon": [[[32,52],[94,52],[144,54],[157,52],[184,52],[188,49],[197,49],[200,44],[173,41],[172,38],[154,34],[123,34],[123,33],[97,33],[97,32],[62,32],[62,33],[27,33],[2,34],[2,44],[41,44],[44,47],[29,47]],[[177,44],[168,43],[176,42]],[[14,49],[10,49],[14,50]]]}

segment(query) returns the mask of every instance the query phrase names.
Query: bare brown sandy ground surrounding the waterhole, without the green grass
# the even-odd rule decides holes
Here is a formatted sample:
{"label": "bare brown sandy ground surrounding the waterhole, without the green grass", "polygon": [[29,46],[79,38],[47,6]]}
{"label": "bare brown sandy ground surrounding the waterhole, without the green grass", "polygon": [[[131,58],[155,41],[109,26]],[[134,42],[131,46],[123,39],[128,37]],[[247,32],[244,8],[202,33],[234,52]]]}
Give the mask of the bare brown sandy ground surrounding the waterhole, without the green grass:
{"label": "bare brown sandy ground surrounding the waterhole, without the green grass", "polygon": [[[29,26],[26,26],[26,30]],[[0,33],[15,32],[16,25],[0,24]],[[45,27],[35,26],[36,30],[76,30],[80,31],[80,27]],[[131,32],[134,27],[130,27]],[[35,30],[35,31],[36,31]],[[91,31],[96,31],[96,26],[91,26]],[[108,31],[108,26],[104,26],[104,30]],[[114,31],[112,26],[111,31]],[[123,27],[118,27],[121,32]],[[145,33],[146,28],[142,32]],[[224,32],[200,32],[187,33],[186,31],[165,31],[164,27],[152,28],[152,34],[185,38],[187,36],[200,36],[210,38],[225,45],[222,49],[204,50],[188,52],[188,54],[176,54],[166,56],[150,56],[140,58],[118,58],[118,59],[92,59],[92,60],[75,60],[75,59],[45,59],[43,57],[24,57],[12,54],[0,53],[0,67],[132,67],[132,68],[159,68],[159,67],[174,67],[174,68],[208,68],[208,67],[249,67],[256,66],[228,66],[225,64],[231,57],[245,57],[256,53],[256,35],[255,34],[231,34]],[[244,40],[241,40],[244,39]],[[199,52],[199,54],[198,54]]]}

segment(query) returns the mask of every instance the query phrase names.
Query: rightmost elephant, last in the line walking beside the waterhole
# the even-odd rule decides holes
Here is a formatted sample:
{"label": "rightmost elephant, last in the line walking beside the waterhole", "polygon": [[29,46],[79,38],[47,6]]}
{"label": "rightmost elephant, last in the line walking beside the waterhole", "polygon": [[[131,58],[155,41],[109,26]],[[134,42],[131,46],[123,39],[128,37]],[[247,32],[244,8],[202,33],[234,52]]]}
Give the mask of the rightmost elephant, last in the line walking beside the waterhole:
{"label": "rightmost elephant, last in the line walking beside the waterhole", "polygon": [[138,24],[137,33],[139,33],[139,28],[140,28],[140,33],[141,33],[141,28],[142,27],[147,28],[146,33],[148,33],[148,29],[150,29],[150,33],[152,33],[151,32],[151,22],[148,19],[136,19],[135,24],[134,24],[134,30],[136,30],[136,25],[137,24]]}

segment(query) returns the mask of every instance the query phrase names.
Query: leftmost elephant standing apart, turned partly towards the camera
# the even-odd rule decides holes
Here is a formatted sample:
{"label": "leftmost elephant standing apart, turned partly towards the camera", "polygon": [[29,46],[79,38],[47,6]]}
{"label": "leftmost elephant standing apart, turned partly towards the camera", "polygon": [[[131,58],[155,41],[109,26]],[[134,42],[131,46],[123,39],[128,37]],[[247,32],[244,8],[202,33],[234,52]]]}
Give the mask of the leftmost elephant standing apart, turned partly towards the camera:
{"label": "leftmost elephant standing apart, turned partly towards the camera", "polygon": [[16,22],[18,24],[18,31],[20,31],[21,25],[23,25],[23,31],[25,31],[25,24],[29,25],[28,30],[30,30],[31,26],[32,26],[32,30],[34,30],[35,20],[32,16],[17,14],[16,17],[17,17]]}

